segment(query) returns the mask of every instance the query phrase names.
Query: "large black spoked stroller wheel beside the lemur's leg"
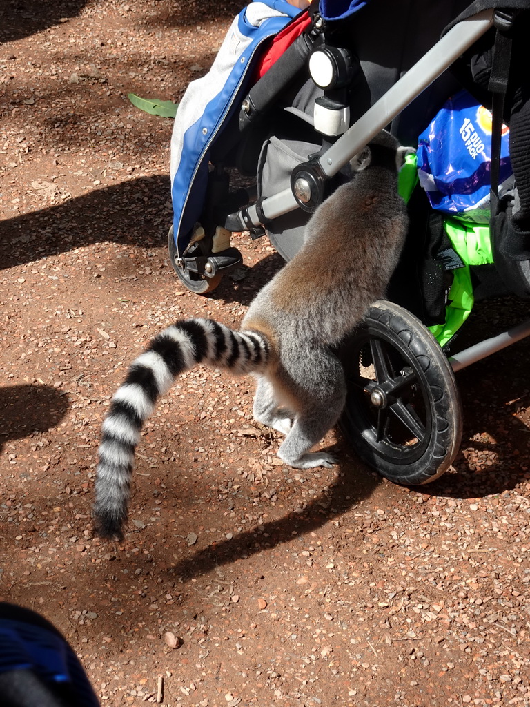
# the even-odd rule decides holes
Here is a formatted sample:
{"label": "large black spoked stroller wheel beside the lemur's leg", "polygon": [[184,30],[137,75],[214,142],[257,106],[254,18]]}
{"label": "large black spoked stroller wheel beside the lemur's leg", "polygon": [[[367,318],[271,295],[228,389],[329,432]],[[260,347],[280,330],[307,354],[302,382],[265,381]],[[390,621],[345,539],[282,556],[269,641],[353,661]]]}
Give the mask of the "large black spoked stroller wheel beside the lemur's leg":
{"label": "large black spoked stroller wheel beside the lemur's leg", "polygon": [[453,370],[408,310],[376,302],[340,351],[348,392],[340,426],[358,455],[396,484],[428,484],[459,450]]}

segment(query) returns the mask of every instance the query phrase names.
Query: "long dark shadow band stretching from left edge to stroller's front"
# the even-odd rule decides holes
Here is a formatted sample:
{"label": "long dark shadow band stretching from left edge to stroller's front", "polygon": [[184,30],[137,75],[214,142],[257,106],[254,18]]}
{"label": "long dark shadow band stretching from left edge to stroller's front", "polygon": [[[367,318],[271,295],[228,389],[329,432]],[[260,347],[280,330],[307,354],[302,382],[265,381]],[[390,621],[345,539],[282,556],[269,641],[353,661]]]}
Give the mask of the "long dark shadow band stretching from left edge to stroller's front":
{"label": "long dark shadow band stretching from left edge to stroller's front", "polygon": [[169,193],[168,176],[140,177],[0,221],[0,269],[104,240],[165,245],[170,214],[163,226],[153,223],[166,213]]}

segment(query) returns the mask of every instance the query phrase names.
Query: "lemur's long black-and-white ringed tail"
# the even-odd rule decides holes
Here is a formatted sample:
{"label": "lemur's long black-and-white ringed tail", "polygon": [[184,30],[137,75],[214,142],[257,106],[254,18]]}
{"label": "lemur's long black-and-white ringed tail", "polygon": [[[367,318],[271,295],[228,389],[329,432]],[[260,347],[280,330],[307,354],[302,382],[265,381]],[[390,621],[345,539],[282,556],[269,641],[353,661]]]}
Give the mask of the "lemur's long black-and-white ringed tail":
{"label": "lemur's long black-and-white ringed tail", "polygon": [[140,431],[175,378],[196,363],[232,373],[259,371],[269,349],[262,334],[234,332],[209,319],[175,322],[151,340],[131,364],[102,425],[94,506],[96,530],[102,537],[123,537]]}

